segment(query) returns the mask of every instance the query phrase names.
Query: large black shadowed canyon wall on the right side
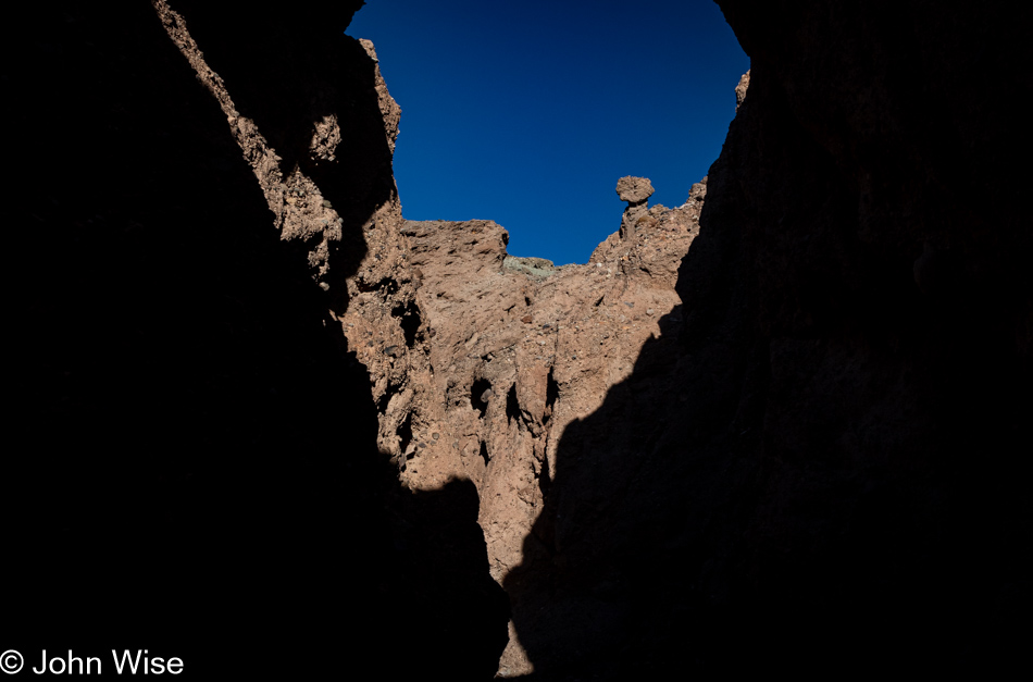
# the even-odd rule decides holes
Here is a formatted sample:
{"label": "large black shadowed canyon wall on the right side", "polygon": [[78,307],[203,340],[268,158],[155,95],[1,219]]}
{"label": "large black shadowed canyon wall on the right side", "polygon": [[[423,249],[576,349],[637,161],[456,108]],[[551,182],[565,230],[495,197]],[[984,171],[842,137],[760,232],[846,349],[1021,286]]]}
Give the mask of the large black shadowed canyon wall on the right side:
{"label": "large black shadowed canyon wall on the right side", "polygon": [[751,80],[684,330],[562,436],[506,582],[527,679],[1024,666],[1028,126],[930,104],[1029,91],[1029,41],[996,2],[720,4]]}

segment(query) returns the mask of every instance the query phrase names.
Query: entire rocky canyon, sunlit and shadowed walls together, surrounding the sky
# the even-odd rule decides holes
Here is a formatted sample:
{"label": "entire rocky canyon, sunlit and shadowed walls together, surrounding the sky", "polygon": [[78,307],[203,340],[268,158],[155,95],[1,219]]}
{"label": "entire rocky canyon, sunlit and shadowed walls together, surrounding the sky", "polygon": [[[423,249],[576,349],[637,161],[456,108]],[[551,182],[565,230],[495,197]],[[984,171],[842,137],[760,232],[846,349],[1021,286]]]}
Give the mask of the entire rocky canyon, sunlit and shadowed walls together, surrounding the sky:
{"label": "entire rocky canyon, sunlit and shadowed walls together, surrounding the sky", "polygon": [[42,8],[0,74],[4,642],[198,679],[1025,665],[1030,11],[719,4],[721,157],[674,209],[621,178],[563,268],[403,219],[361,2]]}

